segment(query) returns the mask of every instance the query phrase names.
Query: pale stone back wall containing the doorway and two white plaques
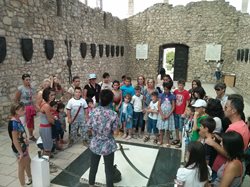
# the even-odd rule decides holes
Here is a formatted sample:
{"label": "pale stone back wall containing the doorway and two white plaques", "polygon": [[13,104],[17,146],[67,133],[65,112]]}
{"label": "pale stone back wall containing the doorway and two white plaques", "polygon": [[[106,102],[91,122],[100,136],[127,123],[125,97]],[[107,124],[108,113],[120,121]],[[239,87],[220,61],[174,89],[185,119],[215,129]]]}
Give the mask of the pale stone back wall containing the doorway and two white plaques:
{"label": "pale stone back wall containing the doorway and two white plaques", "polygon": [[[223,71],[236,74],[236,86],[250,91],[249,62],[236,60],[238,48],[250,47],[250,16],[224,0],[192,2],[172,7],[156,4],[127,20],[129,73],[156,77],[159,46],[176,43],[189,46],[188,80],[200,77],[214,82],[215,62],[205,62],[206,44],[222,45]],[[136,44],[149,45],[149,58],[136,60]]]}

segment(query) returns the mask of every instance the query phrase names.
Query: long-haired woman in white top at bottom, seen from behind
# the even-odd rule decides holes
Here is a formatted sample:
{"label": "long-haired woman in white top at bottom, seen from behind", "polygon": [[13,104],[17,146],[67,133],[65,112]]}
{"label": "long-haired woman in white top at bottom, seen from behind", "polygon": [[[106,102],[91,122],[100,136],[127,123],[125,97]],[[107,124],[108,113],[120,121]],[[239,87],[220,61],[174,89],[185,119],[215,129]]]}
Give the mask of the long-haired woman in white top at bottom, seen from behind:
{"label": "long-haired woman in white top at bottom, seen from behind", "polygon": [[188,145],[188,161],[184,168],[179,168],[176,175],[177,187],[208,186],[211,169],[207,166],[205,148],[201,142],[190,142]]}

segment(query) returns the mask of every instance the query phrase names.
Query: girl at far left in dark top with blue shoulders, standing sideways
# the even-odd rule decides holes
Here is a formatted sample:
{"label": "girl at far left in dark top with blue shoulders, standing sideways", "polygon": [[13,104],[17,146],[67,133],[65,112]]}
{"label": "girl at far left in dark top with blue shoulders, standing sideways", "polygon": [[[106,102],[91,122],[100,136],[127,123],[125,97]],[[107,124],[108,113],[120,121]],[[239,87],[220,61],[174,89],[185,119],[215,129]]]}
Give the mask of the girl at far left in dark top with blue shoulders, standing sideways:
{"label": "girl at far left in dark top with blue shoulders, standing sideways", "polygon": [[20,117],[25,114],[24,104],[13,104],[10,109],[11,119],[8,124],[9,137],[12,141],[12,150],[18,159],[18,178],[21,187],[25,186],[25,172],[28,176],[27,185],[32,183],[30,170],[30,156],[28,151],[28,137]]}

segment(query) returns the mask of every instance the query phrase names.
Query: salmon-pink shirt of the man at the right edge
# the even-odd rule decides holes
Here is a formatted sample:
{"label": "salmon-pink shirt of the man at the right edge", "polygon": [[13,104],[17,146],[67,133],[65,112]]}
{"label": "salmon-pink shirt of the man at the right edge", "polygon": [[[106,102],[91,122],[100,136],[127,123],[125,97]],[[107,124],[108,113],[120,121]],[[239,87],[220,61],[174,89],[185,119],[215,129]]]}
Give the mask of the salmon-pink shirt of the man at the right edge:
{"label": "salmon-pink shirt of the man at the right edge", "polygon": [[244,141],[244,149],[246,150],[250,139],[250,132],[246,123],[243,120],[232,123],[226,130],[226,132],[228,131],[235,131],[242,136]]}

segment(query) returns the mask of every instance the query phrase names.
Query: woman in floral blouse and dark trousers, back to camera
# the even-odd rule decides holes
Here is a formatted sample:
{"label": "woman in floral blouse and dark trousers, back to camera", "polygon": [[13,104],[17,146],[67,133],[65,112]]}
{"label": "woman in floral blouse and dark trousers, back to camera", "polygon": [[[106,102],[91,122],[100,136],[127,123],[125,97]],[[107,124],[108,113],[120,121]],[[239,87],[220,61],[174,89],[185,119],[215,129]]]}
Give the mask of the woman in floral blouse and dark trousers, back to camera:
{"label": "woman in floral blouse and dark trousers, back to camera", "polygon": [[118,126],[118,115],[110,109],[114,94],[111,90],[100,93],[101,106],[94,108],[89,114],[88,126],[92,129],[93,138],[90,142],[91,163],[89,185],[94,186],[95,177],[101,156],[104,158],[106,185],[113,187],[114,152],[117,149],[113,132]]}

